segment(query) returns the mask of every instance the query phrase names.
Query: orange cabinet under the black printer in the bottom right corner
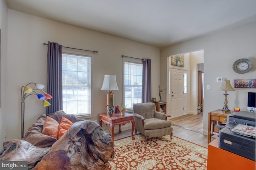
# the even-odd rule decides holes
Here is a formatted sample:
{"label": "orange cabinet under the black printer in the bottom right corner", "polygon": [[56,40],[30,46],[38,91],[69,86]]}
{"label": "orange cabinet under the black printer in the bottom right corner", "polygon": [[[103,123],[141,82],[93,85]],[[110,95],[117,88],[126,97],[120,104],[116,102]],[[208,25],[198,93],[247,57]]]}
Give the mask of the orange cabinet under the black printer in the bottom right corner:
{"label": "orange cabinet under the black printer in the bottom right corner", "polygon": [[219,138],[208,144],[207,170],[255,170],[255,161],[218,147]]}

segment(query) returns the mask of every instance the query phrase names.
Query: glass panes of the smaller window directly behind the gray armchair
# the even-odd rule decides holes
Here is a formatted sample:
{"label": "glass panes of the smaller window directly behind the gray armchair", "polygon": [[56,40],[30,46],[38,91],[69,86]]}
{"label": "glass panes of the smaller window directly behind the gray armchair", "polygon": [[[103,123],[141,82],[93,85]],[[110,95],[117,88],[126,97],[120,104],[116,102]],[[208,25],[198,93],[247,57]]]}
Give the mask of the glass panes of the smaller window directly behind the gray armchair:
{"label": "glass panes of the smaller window directly behind the gray armchair", "polygon": [[124,62],[124,106],[132,109],[132,104],[141,103],[142,64]]}

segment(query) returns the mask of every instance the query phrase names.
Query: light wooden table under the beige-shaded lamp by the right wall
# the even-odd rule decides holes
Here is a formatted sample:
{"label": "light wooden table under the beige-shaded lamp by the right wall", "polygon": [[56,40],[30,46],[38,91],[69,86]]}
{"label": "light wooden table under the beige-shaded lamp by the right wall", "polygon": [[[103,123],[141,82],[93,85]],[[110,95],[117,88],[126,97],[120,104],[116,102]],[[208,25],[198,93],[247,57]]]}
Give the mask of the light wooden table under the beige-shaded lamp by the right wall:
{"label": "light wooden table under the beige-shaded lamp by the right wall", "polygon": [[213,122],[218,121],[218,124],[220,125],[221,122],[225,122],[224,119],[228,117],[230,113],[225,113],[224,111],[222,111],[222,109],[214,110],[208,113],[208,143],[211,142],[211,137],[212,135],[214,135],[213,133],[211,133],[211,131],[213,131],[214,129]]}

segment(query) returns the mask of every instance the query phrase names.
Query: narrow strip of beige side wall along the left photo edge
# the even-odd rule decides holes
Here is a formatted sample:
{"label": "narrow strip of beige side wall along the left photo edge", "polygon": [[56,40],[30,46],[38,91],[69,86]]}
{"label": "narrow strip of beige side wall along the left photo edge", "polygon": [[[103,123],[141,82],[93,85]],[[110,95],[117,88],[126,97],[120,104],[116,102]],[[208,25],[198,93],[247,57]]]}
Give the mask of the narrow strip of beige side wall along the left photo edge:
{"label": "narrow strip of beige side wall along the left photo edge", "polygon": [[7,60],[7,6],[4,0],[0,0],[0,29],[1,29],[1,40],[0,40],[0,57],[1,57],[1,80],[0,80],[0,97],[1,97],[1,108],[0,108],[0,150],[2,150],[2,143],[4,142],[4,134],[6,134],[6,60]]}

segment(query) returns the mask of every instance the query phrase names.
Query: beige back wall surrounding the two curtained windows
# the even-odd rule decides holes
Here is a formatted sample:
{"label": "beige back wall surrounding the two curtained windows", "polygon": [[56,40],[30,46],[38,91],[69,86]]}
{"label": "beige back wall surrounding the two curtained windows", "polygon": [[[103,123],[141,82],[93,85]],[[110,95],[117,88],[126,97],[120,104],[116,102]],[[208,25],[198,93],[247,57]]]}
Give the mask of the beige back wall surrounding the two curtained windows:
{"label": "beige back wall surrounding the two curtained windows", "polygon": [[[8,91],[8,114],[5,120],[7,139],[20,138],[21,86],[29,82],[47,82],[47,46],[43,43],[48,41],[58,42],[66,47],[98,51],[95,54],[79,51],[92,56],[92,116],[88,119],[98,120],[98,114],[106,111],[107,92],[100,90],[104,74],[116,75],[119,91],[114,92],[115,104],[123,102],[122,55],[152,60],[152,95],[158,95],[159,48],[8,9],[8,61],[5,63],[8,68],[5,89]],[[45,113],[45,108],[34,96],[27,98],[25,103],[26,132],[39,115]]]}

